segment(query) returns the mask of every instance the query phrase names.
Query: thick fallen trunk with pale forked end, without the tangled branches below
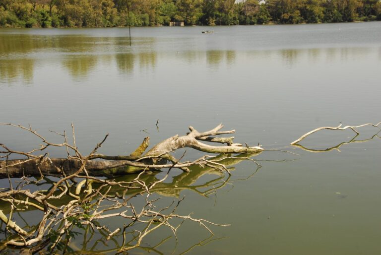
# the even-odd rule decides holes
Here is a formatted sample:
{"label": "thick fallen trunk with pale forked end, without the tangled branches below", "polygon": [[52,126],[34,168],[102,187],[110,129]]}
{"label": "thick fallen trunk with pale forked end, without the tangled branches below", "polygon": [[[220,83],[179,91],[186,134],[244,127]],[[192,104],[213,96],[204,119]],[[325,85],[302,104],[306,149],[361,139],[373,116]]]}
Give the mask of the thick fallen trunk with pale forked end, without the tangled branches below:
{"label": "thick fallen trunk with pale forked end, without the tangled branches below", "polygon": [[[12,159],[0,161],[0,178],[9,177],[22,177],[22,176],[62,176],[71,175],[78,171],[83,166],[81,172],[77,174],[86,174],[90,176],[107,176],[114,177],[119,175],[137,173],[144,170],[158,170],[163,168],[179,168],[183,171],[189,171],[189,167],[195,164],[208,165],[213,164],[208,160],[208,156],[204,156],[195,161],[180,162],[173,157],[170,153],[180,148],[193,148],[206,153],[258,153],[263,151],[260,146],[243,147],[242,144],[233,143],[234,137],[211,137],[221,134],[235,133],[235,130],[220,131],[222,125],[213,128],[206,132],[198,132],[196,129],[190,127],[187,135],[175,135],[164,141],[156,144],[145,154],[143,152],[149,145],[149,137],[144,138],[142,144],[130,155],[122,156],[108,156],[97,153],[97,149],[102,146],[102,143],[108,137],[105,136],[104,140],[99,143],[96,149],[88,156],[82,156],[75,145],[75,135],[73,131],[73,144],[67,142],[66,134],[59,134],[64,137],[64,142],[57,144],[47,141],[42,135],[37,133],[31,127],[22,127],[13,124],[1,124],[21,128],[29,131],[35,136],[39,137],[43,144],[40,148],[34,149],[29,152],[14,151],[0,143],[0,147],[4,151],[0,151],[4,157],[10,155],[25,156],[26,159]],[[74,130],[74,128],[73,128]],[[200,141],[209,141],[216,143],[226,143],[226,146],[211,146]],[[35,155],[36,153],[43,152],[49,146],[65,147],[67,150],[66,158],[49,158],[48,154]],[[70,155],[69,150],[73,151],[75,155]],[[97,160],[96,160],[97,159]],[[103,160],[99,160],[103,159]],[[169,161],[169,163],[167,163]],[[87,172],[87,173],[86,173]]]}

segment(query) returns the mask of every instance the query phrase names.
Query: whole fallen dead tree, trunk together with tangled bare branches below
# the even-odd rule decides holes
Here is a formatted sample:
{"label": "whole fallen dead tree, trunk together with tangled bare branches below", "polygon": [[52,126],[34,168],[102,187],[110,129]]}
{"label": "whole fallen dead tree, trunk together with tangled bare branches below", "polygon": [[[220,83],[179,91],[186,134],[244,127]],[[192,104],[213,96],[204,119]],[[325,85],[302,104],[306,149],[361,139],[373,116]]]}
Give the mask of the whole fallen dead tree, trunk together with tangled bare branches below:
{"label": "whole fallen dead tree, trunk together with tangled bare branches below", "polygon": [[[186,135],[170,137],[144,153],[149,145],[149,137],[146,137],[134,152],[125,156],[109,156],[97,152],[107,139],[107,134],[100,143],[96,144],[89,155],[83,156],[76,146],[73,126],[73,142],[70,144],[66,132],[55,132],[62,136],[63,142],[52,143],[30,126],[1,125],[30,132],[40,138],[42,144],[27,152],[12,150],[7,145],[0,144],[2,148],[0,157],[4,159],[0,161],[0,178],[8,178],[10,184],[9,189],[0,191],[0,200],[8,204],[6,209],[0,209],[0,221],[5,224],[5,231],[8,233],[5,240],[0,242],[0,252],[1,249],[8,246],[24,247],[26,248],[23,250],[25,254],[37,253],[46,249],[47,246],[50,251],[68,251],[70,241],[74,237],[73,233],[75,233],[73,229],[84,229],[84,226],[89,227],[93,233],[102,231],[105,233],[106,240],[122,235],[122,243],[118,244],[113,251],[117,254],[139,247],[146,235],[161,226],[170,228],[176,236],[182,223],[175,224],[174,219],[197,222],[212,233],[210,225],[227,225],[196,219],[191,217],[191,214],[177,214],[176,209],[182,199],[165,208],[155,209],[157,199],[151,198],[151,193],[157,191],[155,189],[163,184],[173,168],[183,170],[186,175],[190,175],[195,168],[202,168],[205,172],[216,171],[229,176],[227,166],[250,159],[253,155],[263,151],[259,146],[244,147],[242,144],[233,143],[234,137],[213,137],[235,132],[235,130],[220,131],[223,126],[219,125],[201,133],[190,127],[190,132]],[[226,145],[211,146],[202,141]],[[67,157],[50,158],[48,153],[42,154],[50,147],[64,148]],[[171,155],[171,152],[185,147],[220,155],[205,155],[194,161],[182,161],[184,154],[179,159]],[[240,155],[234,156],[233,154]],[[9,159],[15,156],[24,158]],[[259,166],[257,165],[257,167]],[[144,173],[163,169],[167,169],[163,178],[144,181]],[[110,178],[131,173],[139,174],[129,181],[116,181]],[[38,179],[30,179],[30,176]],[[60,179],[54,182],[47,178],[48,176],[60,177]],[[97,176],[105,176],[109,179]],[[190,175],[189,182],[195,182],[197,176],[198,174],[193,177]],[[21,177],[21,182],[13,188],[10,178],[15,177]],[[41,182],[44,182],[44,185],[49,183],[49,189],[31,191],[24,188],[30,184],[39,185]],[[223,182],[222,186],[225,183]],[[215,191],[218,187],[213,187],[213,189]],[[176,191],[173,193],[176,194]],[[140,208],[132,204],[137,195],[145,196],[145,203]],[[63,203],[63,201],[66,202]],[[36,225],[22,226],[12,219],[12,214],[20,210],[28,210],[28,208],[42,212],[42,218]],[[128,224],[115,230],[109,230],[99,223],[100,220],[113,217],[124,218]],[[128,232],[135,223],[142,223],[144,227]],[[129,239],[126,237],[128,233]]]}

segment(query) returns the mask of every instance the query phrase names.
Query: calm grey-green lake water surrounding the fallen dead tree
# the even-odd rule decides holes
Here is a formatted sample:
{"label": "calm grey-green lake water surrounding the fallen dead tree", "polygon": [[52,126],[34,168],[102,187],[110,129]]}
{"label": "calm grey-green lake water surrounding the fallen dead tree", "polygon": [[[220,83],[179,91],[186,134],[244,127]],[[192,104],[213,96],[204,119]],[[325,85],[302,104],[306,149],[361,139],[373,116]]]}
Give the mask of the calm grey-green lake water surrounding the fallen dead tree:
{"label": "calm grey-green lake water surrounding the fallen dead tree", "polygon": [[[0,29],[0,122],[31,124],[52,139],[49,130],[73,122],[83,153],[110,133],[101,149],[109,155],[129,154],[147,135],[155,144],[190,125],[206,131],[223,123],[237,130],[236,142],[300,156],[264,152],[258,171],[242,162],[232,179],[254,175],[208,197],[184,189],[179,213],[231,226],[213,227],[215,237],[199,243],[208,233],[187,223],[177,246],[171,238],[157,250],[381,254],[380,129],[361,128],[356,140],[373,139],[327,152],[289,146],[318,127],[381,121],[381,22],[131,28],[131,35],[130,47],[126,28]],[[353,137],[322,131],[302,144],[323,150]],[[38,141],[0,127],[0,142],[27,150]],[[200,155],[188,149],[186,157]],[[144,245],[170,235],[155,232]]]}

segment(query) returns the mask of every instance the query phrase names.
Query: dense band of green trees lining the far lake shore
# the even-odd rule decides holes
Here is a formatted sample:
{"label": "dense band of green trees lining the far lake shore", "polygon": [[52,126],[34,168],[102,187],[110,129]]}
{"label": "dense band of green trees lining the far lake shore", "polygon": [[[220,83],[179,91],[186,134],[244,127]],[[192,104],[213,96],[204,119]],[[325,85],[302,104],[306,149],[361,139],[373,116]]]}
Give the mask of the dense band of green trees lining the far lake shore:
{"label": "dense band of green trees lining the far lake shore", "polygon": [[[128,11],[129,21],[128,21]],[[0,0],[1,27],[249,25],[381,20],[381,0]]]}

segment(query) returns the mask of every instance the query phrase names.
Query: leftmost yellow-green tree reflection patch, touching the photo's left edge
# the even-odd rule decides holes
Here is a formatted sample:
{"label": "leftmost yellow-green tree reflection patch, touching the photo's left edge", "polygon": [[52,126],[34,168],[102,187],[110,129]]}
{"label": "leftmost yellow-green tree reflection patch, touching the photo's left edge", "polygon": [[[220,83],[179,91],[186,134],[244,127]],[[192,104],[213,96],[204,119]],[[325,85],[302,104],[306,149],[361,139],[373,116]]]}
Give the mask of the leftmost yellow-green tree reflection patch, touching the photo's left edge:
{"label": "leftmost yellow-green tree reflection patch, touching the photo's left edge", "polygon": [[23,79],[30,83],[33,79],[34,60],[32,59],[14,59],[1,60],[0,79],[7,83],[14,82],[17,79]]}

